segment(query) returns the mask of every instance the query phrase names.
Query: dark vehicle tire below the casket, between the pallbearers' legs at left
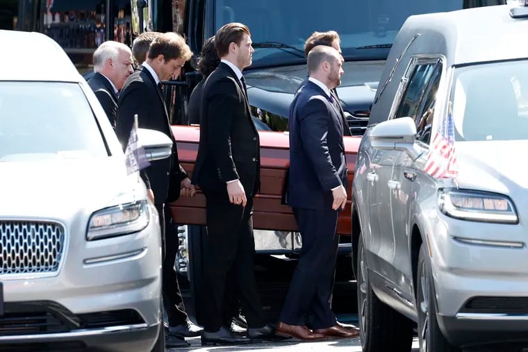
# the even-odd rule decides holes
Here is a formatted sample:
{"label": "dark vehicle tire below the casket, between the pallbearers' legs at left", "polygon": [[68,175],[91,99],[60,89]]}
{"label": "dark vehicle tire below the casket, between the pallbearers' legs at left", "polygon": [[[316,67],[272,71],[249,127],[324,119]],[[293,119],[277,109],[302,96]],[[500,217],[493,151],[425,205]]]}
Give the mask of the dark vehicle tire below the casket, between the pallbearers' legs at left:
{"label": "dark vehicle tire below the casket, between the pallbearers' legs at left", "polygon": [[195,304],[195,314],[198,325],[204,325],[206,317],[200,307],[201,287],[204,278],[204,237],[207,234],[206,226],[188,226],[189,249],[189,281],[192,301]]}

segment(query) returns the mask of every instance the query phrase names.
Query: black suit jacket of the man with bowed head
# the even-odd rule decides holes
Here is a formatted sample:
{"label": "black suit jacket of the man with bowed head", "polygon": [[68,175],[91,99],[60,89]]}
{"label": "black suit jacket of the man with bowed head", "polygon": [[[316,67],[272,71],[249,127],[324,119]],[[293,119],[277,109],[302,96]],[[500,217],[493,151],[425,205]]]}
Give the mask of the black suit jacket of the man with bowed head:
{"label": "black suit jacket of the man with bowed head", "polygon": [[140,128],[163,132],[172,139],[172,156],[151,162],[143,170],[142,178],[154,192],[157,204],[175,201],[180,194],[180,182],[187,174],[179,164],[176,140],[170,128],[163,94],[149,70],[142,66],[126,78],[119,93],[115,133],[123,148],[126,148],[129,140],[135,114],[138,114]]}

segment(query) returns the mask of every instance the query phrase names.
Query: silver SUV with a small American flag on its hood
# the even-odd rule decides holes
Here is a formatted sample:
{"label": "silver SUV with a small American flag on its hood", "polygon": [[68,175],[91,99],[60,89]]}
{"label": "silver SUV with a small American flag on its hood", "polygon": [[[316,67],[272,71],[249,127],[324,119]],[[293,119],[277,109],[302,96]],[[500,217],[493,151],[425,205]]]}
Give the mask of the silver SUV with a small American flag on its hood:
{"label": "silver SUV with a small American flag on its hood", "polygon": [[397,35],[353,184],[363,351],[409,352],[414,324],[423,352],[527,345],[526,15],[418,15]]}

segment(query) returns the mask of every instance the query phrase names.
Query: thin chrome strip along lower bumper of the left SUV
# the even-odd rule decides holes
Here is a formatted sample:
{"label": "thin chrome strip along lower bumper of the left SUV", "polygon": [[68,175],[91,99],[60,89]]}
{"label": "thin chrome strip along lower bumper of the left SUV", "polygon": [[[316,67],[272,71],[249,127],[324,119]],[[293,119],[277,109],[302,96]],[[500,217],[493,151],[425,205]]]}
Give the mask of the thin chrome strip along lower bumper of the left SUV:
{"label": "thin chrome strip along lower bumper of the left SUV", "polygon": [[43,339],[71,339],[72,337],[85,337],[94,335],[104,335],[111,333],[126,333],[134,332],[136,330],[143,330],[149,326],[145,323],[132,324],[132,325],[121,325],[121,326],[108,326],[107,328],[97,329],[79,329],[72,330],[68,333],[53,333],[53,334],[32,334],[32,335],[8,335],[0,336],[1,341],[22,341],[27,342],[28,340],[43,340]]}

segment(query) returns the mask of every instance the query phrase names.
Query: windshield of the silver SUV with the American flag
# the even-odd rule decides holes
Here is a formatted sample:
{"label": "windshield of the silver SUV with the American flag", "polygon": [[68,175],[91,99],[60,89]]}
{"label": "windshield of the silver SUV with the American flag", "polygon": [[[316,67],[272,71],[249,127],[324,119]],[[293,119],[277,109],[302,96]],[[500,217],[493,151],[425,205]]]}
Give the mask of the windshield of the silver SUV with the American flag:
{"label": "windshield of the silver SUV with the American flag", "polygon": [[527,60],[460,67],[453,82],[455,140],[528,140]]}

